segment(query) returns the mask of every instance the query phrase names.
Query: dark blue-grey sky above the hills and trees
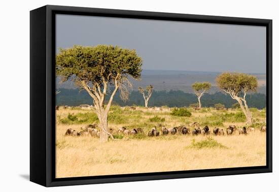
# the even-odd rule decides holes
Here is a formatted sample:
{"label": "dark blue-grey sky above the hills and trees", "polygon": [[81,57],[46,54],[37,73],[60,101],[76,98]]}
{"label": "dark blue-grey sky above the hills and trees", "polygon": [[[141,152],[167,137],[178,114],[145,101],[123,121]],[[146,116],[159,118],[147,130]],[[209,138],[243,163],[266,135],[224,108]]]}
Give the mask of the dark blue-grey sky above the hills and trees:
{"label": "dark blue-grey sky above the hills and trees", "polygon": [[266,73],[263,26],[56,15],[56,46],[135,49],[146,70]]}

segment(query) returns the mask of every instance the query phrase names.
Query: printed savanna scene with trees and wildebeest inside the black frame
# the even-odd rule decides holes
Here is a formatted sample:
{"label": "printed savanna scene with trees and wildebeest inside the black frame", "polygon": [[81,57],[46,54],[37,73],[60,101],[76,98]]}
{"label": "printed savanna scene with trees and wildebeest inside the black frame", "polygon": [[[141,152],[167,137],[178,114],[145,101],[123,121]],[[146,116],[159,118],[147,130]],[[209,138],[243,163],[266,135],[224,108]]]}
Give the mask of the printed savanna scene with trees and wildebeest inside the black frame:
{"label": "printed savanna scene with trees and wildebeest inside the black frame", "polygon": [[266,165],[263,27],[56,24],[56,178]]}

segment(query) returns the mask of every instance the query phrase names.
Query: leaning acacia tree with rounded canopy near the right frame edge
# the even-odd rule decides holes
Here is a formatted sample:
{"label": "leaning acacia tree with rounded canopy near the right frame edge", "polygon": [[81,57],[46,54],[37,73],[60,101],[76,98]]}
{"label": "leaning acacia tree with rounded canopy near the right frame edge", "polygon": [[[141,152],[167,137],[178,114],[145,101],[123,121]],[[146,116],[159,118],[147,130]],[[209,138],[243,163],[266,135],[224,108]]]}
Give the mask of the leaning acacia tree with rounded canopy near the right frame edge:
{"label": "leaning acacia tree with rounded canopy near the right frame edge", "polygon": [[246,95],[248,91],[256,91],[258,87],[257,78],[243,73],[222,73],[216,79],[217,85],[230,97],[239,103],[246,116],[247,123],[252,124],[252,113],[250,112]]}

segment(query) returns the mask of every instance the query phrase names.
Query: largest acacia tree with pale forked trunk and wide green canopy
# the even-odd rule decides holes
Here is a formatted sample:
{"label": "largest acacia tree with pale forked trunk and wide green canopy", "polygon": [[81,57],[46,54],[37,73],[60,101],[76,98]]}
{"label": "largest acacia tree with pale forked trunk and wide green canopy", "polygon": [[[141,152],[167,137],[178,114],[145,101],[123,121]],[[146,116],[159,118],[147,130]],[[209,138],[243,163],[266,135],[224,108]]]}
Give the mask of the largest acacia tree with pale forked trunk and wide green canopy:
{"label": "largest acacia tree with pale forked trunk and wide green canopy", "polygon": [[[85,89],[93,99],[99,119],[100,141],[108,141],[113,135],[108,130],[108,113],[114,95],[120,90],[123,100],[128,99],[128,77],[141,78],[142,58],[135,50],[118,46],[97,45],[95,47],[74,46],[60,49],[56,55],[56,73],[62,81],[73,80]],[[112,88],[109,92],[109,86]],[[106,97],[109,97],[105,106]]]}

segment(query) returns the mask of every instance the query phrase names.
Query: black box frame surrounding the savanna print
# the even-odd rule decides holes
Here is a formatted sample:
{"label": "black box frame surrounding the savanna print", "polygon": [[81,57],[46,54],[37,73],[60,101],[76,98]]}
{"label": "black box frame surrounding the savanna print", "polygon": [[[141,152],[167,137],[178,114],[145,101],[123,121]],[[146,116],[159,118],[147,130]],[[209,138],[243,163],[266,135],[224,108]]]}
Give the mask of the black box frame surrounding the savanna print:
{"label": "black box frame surrounding the savanna print", "polygon": [[[266,166],[55,178],[55,14],[266,26]],[[30,181],[80,185],[272,172],[272,20],[47,5],[30,11]]]}

